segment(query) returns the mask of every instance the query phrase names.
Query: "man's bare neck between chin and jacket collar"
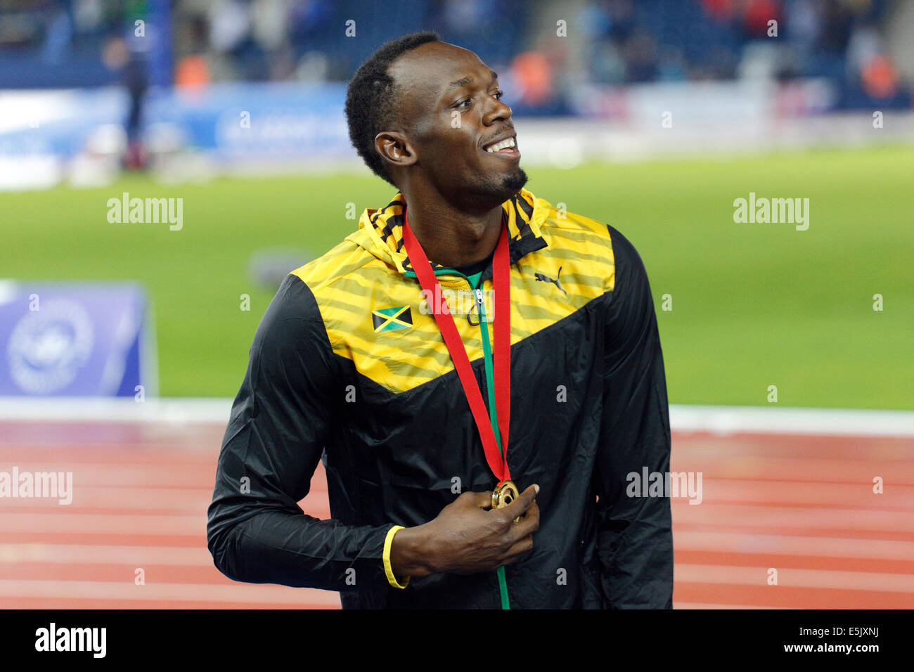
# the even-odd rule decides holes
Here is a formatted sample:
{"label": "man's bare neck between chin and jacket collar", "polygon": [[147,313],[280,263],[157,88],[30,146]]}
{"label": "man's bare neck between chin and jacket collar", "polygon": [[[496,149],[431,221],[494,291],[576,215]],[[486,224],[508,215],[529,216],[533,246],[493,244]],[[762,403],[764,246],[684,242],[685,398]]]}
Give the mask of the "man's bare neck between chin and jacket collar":
{"label": "man's bare neck between chin and jacket collar", "polygon": [[403,193],[409,228],[429,261],[453,267],[480,261],[498,244],[502,231],[501,204],[482,213],[453,208],[441,198]]}

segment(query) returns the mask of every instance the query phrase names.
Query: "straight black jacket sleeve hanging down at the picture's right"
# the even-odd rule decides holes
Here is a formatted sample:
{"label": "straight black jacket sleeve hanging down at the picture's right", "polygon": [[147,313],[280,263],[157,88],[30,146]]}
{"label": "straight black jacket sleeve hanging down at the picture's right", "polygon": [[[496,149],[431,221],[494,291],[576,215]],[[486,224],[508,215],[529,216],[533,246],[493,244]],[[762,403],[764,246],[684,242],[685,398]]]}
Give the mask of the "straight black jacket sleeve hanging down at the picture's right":
{"label": "straight black jacket sleeve hanging down at the picture's right", "polygon": [[[648,474],[670,466],[664,357],[641,257],[609,227],[615,285],[605,323],[603,408],[595,470],[597,553],[604,606],[673,607],[668,493],[641,495]],[[633,487],[637,483],[639,487]],[[645,485],[646,487],[646,485]]]}

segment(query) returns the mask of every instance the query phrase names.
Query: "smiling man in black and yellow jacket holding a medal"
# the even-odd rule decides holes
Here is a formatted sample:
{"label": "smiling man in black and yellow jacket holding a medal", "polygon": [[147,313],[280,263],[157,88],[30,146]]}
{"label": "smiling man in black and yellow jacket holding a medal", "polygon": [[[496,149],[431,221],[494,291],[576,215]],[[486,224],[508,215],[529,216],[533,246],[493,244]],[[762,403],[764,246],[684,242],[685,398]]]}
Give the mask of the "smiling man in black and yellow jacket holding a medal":
{"label": "smiling man in black and yellow jacket holding a medal", "polygon": [[[260,323],[209,507],[228,577],[344,608],[672,607],[669,499],[626,495],[669,470],[646,273],[523,188],[501,95],[428,32],[356,71],[350,136],[399,193]],[[296,504],[322,453],[329,520]]]}

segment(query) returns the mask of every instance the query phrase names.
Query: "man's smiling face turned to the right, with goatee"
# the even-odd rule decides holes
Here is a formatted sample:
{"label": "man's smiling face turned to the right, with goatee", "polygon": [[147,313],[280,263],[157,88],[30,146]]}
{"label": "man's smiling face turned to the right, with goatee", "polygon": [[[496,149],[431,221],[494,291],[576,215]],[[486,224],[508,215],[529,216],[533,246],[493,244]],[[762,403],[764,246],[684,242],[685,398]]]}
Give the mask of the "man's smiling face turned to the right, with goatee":
{"label": "man's smiling face turned to the right, with goatee", "polygon": [[448,201],[484,211],[526,184],[511,108],[472,51],[430,42],[403,54],[388,74],[403,91],[401,125],[378,133],[375,144],[400,188],[420,179]]}

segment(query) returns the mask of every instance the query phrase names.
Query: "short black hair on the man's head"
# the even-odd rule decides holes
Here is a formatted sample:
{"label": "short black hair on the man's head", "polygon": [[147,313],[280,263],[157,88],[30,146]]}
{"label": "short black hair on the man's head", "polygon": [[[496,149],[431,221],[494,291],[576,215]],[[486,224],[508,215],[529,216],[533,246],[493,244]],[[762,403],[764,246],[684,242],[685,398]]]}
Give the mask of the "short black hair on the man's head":
{"label": "short black hair on the man's head", "polygon": [[345,116],[349,139],[358,155],[372,172],[394,185],[384,160],[375,149],[375,136],[396,121],[397,101],[401,93],[388,75],[390,64],[402,54],[426,42],[440,41],[438,33],[423,30],[410,33],[381,45],[356,70],[345,96]]}

